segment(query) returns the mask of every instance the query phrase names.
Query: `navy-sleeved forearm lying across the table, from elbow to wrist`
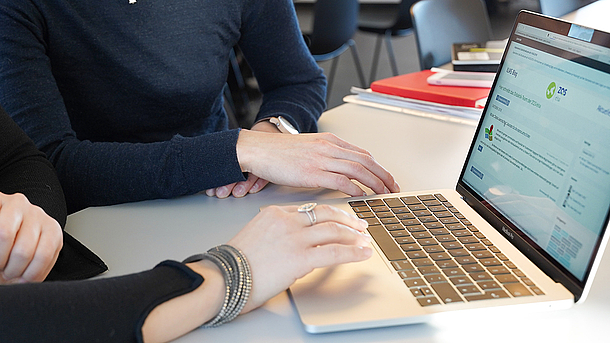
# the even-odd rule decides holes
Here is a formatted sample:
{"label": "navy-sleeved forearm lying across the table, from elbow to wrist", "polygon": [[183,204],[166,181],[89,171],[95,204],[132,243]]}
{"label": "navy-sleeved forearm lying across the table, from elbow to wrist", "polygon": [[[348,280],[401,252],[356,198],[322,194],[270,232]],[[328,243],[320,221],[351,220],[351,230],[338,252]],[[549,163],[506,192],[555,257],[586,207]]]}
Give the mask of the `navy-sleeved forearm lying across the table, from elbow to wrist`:
{"label": "navy-sleeved forearm lying across the table, from elbow to wrist", "polygon": [[47,153],[72,213],[88,206],[173,198],[245,180],[235,152],[237,135],[176,136],[149,144],[73,141]]}

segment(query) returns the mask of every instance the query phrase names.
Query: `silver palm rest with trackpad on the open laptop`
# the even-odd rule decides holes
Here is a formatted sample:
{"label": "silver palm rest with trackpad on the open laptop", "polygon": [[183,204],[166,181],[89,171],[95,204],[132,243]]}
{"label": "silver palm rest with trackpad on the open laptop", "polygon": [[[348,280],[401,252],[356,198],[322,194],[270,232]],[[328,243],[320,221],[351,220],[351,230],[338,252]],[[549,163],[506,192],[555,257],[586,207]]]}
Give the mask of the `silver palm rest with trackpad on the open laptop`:
{"label": "silver palm rest with trackpad on the open laptop", "polygon": [[[305,329],[325,332],[406,324],[426,311],[374,253],[363,262],[320,268],[290,287]],[[421,322],[422,318],[412,322]]]}

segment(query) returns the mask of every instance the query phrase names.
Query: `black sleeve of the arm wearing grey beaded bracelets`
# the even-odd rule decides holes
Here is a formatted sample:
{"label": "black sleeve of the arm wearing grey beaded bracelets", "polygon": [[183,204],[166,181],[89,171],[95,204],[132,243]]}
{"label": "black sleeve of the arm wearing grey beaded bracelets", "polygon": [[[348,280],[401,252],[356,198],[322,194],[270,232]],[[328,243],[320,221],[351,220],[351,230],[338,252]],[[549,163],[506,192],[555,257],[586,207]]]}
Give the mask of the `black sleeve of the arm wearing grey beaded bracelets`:
{"label": "black sleeve of the arm wearing grey beaded bracelets", "polygon": [[0,286],[0,341],[142,342],[150,311],[202,282],[165,261],[122,277]]}

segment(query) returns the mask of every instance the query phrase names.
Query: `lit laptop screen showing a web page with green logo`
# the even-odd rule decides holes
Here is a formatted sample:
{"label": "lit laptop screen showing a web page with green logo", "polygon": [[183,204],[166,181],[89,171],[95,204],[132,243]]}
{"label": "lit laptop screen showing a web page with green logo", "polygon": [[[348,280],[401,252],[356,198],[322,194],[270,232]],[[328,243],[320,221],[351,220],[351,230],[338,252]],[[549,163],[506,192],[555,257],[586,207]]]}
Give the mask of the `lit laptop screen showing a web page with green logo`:
{"label": "lit laptop screen showing a web page with green logo", "polygon": [[522,13],[461,176],[581,287],[610,208],[609,37]]}

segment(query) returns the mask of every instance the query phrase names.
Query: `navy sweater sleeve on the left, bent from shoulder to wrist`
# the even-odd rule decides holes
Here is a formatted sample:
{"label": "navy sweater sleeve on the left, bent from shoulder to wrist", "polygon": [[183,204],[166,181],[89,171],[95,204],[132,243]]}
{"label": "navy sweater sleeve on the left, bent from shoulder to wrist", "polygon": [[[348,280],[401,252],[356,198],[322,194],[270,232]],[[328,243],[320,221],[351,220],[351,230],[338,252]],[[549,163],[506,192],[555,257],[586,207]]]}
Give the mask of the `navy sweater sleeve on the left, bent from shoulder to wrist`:
{"label": "navy sweater sleeve on the left, bent from shoulder to wrist", "polygon": [[45,19],[28,1],[8,3],[0,2],[0,104],[55,166],[68,213],[245,180],[238,130],[153,143],[81,140],[46,54]]}

